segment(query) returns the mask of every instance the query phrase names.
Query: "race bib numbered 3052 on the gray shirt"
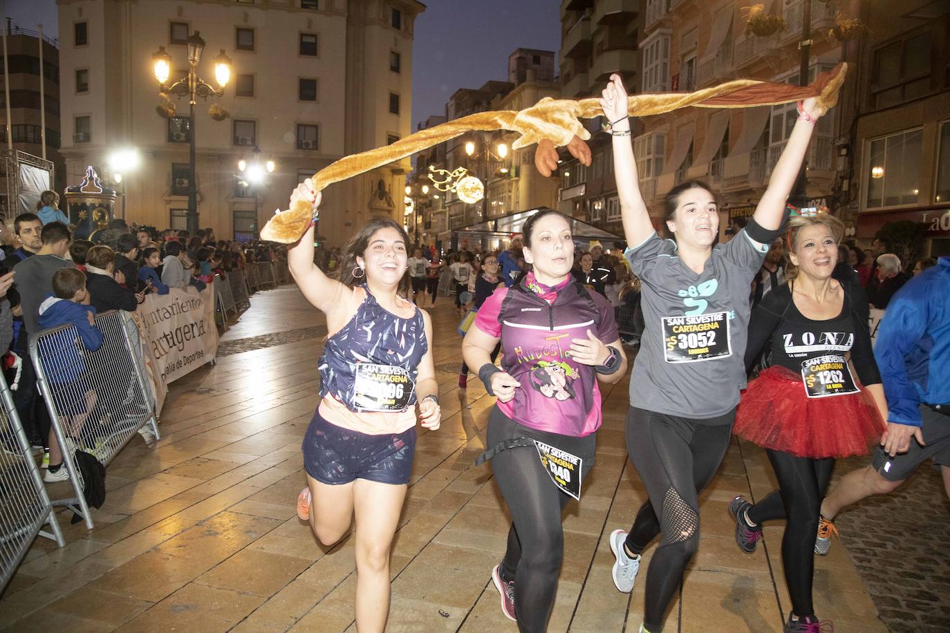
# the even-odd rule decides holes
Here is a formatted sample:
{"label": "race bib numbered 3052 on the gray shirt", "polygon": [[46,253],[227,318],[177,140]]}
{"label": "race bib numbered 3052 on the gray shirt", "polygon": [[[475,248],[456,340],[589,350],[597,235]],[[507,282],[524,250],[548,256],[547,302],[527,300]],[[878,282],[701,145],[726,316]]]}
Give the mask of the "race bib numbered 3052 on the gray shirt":
{"label": "race bib numbered 3052 on the gray shirt", "polygon": [[694,363],[730,356],[729,312],[663,317],[663,353],[667,363]]}

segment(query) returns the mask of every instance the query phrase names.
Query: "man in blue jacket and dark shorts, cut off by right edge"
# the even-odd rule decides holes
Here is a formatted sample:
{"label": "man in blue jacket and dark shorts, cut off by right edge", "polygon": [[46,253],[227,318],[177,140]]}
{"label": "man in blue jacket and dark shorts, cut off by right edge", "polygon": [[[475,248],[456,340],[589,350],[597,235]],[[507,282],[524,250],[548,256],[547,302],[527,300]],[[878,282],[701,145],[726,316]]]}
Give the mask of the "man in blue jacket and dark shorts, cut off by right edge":
{"label": "man in blue jacket and dark shorts, cut off by right edge", "polygon": [[871,464],[841,478],[822,503],[815,551],[826,554],[831,520],[871,494],[890,493],[928,458],[950,496],[950,257],[904,284],[878,329],[874,357],[887,399],[887,430]]}

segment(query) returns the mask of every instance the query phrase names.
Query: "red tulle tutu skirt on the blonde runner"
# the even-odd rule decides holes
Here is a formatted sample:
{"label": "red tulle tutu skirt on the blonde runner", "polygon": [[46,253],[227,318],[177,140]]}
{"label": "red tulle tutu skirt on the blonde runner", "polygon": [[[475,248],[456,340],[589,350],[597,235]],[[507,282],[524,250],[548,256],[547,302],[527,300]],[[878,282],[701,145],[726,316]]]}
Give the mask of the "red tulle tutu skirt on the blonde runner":
{"label": "red tulle tutu skirt on the blonde runner", "polygon": [[868,444],[881,438],[884,428],[863,388],[808,398],[801,376],[772,365],[743,392],[732,433],[763,448],[818,458],[866,455]]}

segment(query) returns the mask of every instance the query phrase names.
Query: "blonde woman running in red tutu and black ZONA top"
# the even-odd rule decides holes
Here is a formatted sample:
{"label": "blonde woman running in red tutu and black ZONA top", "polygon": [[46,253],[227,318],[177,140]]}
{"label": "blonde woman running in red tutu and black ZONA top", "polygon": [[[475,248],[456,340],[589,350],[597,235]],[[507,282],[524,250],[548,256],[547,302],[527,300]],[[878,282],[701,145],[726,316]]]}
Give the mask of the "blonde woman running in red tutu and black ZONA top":
{"label": "blonde woman running in red tutu and black ZONA top", "polygon": [[767,344],[772,364],[750,382],[735,419],[734,433],[766,449],[779,483],[754,506],[742,496],[732,499],[735,542],[751,553],[763,521],[788,519],[782,566],[791,597],[789,633],[824,624],[811,603],[812,548],[835,457],[866,454],[887,419],[867,319],[860,316],[864,291],[831,276],[844,233],[841,221],[828,214],[791,220],[789,281],[752,312],[746,348],[747,367]]}

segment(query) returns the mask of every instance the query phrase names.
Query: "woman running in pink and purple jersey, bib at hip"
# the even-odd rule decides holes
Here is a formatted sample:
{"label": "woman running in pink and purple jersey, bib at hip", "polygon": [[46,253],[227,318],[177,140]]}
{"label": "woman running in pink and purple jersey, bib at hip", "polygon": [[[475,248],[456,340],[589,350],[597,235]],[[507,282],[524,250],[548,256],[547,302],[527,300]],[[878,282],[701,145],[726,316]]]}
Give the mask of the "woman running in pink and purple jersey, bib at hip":
{"label": "woman running in pink and purple jersey, bib at hip", "polygon": [[[495,290],[468,329],[462,352],[498,398],[488,419],[492,472],[511,512],[508,546],[492,580],[504,615],[542,633],[554,606],[564,541],[561,511],[594,465],[598,379],[618,382],[626,357],[614,308],[571,275],[568,219],[539,211],[523,226],[523,280]],[[501,341],[504,369],[490,360]]]}

